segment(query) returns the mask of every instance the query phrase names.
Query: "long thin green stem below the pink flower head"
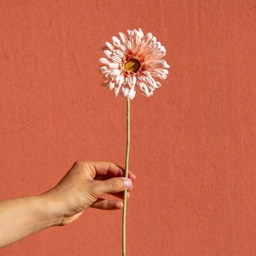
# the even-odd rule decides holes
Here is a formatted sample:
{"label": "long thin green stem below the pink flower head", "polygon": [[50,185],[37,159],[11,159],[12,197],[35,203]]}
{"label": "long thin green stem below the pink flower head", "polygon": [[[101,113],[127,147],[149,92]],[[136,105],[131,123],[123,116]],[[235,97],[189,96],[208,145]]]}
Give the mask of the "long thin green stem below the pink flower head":
{"label": "long thin green stem below the pink flower head", "polygon": [[[127,99],[127,141],[126,141],[126,157],[125,157],[125,177],[128,178],[129,165],[129,151],[130,151],[130,99]],[[124,191],[124,208],[123,208],[123,256],[126,255],[125,247],[125,217],[127,204],[127,190]]]}

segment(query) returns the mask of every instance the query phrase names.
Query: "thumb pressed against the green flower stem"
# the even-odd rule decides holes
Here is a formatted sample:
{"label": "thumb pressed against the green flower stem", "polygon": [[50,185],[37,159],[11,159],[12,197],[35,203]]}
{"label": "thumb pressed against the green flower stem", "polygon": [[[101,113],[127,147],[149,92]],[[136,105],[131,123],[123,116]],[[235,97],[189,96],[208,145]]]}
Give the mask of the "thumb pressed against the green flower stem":
{"label": "thumb pressed against the green flower stem", "polygon": [[118,193],[132,186],[132,180],[124,177],[95,181],[95,191],[97,191],[97,196],[102,196],[107,193]]}

